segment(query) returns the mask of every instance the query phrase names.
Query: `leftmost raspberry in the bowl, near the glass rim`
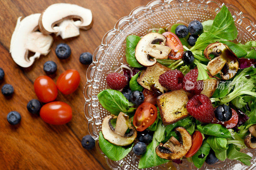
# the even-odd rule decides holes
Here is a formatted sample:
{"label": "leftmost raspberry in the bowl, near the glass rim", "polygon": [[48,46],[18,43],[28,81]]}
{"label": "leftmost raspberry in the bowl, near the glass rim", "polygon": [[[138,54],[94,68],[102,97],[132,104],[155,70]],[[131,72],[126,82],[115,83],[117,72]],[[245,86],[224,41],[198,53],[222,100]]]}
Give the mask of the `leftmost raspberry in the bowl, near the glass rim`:
{"label": "leftmost raspberry in the bowl, near the glass rim", "polygon": [[127,80],[123,74],[110,73],[107,76],[107,84],[111,89],[120,90],[126,86]]}

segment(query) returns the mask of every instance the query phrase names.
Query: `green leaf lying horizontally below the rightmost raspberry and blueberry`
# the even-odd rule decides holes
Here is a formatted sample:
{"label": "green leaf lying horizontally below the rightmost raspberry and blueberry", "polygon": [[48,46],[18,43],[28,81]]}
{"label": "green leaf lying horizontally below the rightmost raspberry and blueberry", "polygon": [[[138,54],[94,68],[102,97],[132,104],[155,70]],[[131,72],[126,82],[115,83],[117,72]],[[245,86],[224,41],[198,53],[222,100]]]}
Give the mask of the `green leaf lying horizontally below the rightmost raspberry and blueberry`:
{"label": "green leaf lying horizontally below the rightmost raspberry and blueberry", "polygon": [[231,134],[228,129],[220,124],[207,124],[204,126],[197,125],[198,131],[205,135],[216,136],[220,138],[231,138]]}

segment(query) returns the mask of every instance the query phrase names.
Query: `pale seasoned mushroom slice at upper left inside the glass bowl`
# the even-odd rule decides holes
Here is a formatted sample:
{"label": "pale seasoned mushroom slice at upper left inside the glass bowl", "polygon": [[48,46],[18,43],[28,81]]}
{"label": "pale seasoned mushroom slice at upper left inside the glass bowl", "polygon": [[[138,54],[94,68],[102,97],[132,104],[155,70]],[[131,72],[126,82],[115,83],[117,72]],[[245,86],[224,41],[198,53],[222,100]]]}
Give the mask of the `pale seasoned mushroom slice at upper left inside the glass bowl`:
{"label": "pale seasoned mushroom slice at upper left inside the glass bowl", "polygon": [[[161,45],[155,44],[162,42]],[[171,52],[171,48],[165,46],[166,38],[159,33],[152,32],[142,37],[135,49],[135,57],[137,61],[145,67],[156,64],[156,59],[167,59]],[[150,60],[149,56],[154,57]]]}

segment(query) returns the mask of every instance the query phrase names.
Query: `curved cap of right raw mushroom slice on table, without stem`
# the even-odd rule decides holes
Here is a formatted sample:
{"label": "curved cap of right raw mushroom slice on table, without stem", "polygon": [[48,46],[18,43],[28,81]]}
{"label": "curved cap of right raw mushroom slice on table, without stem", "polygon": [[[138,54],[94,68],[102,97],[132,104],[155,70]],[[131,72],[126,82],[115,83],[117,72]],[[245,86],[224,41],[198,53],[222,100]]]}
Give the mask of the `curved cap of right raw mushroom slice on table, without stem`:
{"label": "curved cap of right raw mushroom slice on table, without stem", "polygon": [[65,19],[77,18],[81,21],[73,21],[74,25],[82,29],[90,29],[92,26],[92,11],[76,4],[57,3],[52,4],[42,13],[39,19],[39,30],[44,34],[60,32],[59,26],[54,26]]}

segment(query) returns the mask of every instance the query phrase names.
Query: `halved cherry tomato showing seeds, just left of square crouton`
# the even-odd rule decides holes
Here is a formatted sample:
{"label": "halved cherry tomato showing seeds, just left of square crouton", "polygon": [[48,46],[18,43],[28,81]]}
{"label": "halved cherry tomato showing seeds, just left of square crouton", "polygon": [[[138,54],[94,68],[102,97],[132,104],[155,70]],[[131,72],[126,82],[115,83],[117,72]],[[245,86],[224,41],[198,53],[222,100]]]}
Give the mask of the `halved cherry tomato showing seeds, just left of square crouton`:
{"label": "halved cherry tomato showing seeds, just left of square crouton", "polygon": [[142,103],[136,110],[133,117],[133,125],[137,131],[144,131],[156,120],[157,109],[151,103]]}

